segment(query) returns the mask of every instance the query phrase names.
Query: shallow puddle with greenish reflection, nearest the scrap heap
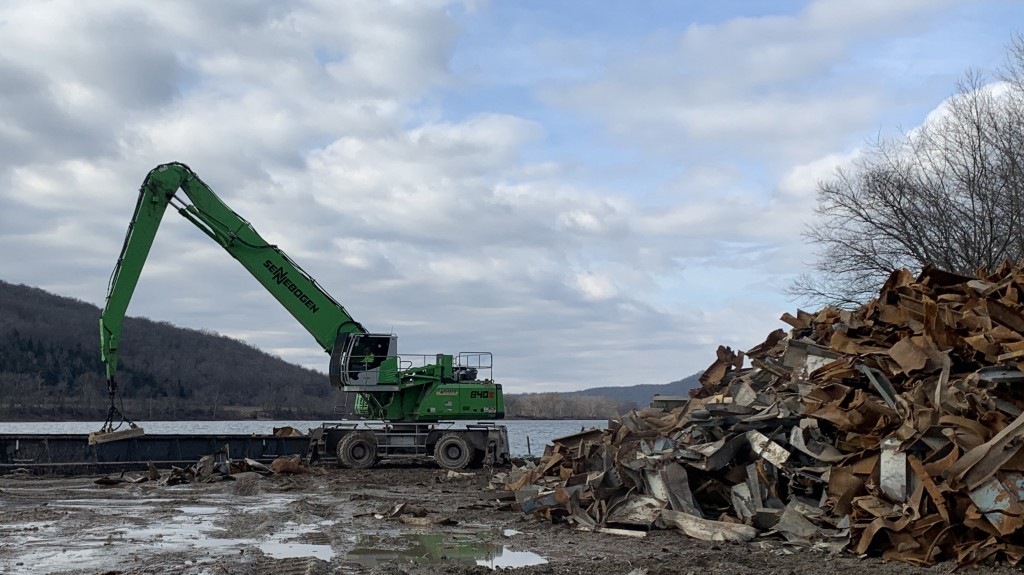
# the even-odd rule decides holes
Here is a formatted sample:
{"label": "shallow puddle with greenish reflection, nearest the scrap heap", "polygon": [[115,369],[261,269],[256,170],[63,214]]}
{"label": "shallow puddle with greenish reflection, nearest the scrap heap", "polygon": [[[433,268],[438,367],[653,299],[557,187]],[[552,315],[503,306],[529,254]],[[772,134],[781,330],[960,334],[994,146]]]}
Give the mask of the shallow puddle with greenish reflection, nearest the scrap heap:
{"label": "shallow puddle with greenish reflection, nearest the scrap heap", "polygon": [[532,551],[514,551],[500,543],[490,543],[475,534],[410,533],[399,536],[401,548],[380,548],[377,539],[358,537],[347,559],[364,567],[377,567],[389,562],[436,565],[454,561],[480,565],[490,569],[526,567],[548,563]]}

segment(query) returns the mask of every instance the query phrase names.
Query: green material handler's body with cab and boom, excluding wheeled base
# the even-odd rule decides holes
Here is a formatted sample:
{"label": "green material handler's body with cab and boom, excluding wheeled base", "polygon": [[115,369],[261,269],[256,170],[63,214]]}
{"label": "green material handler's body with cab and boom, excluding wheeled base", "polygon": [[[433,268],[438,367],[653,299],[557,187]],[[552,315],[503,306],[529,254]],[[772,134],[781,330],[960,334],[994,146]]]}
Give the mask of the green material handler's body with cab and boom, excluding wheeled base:
{"label": "green material handler's body with cab and boom, excluding wheeled base", "polygon": [[[182,190],[190,203],[176,197]],[[370,335],[344,306],[276,246],[267,244],[246,221],[228,208],[187,166],[158,166],[139,188],[138,202],[125,236],[121,255],[111,275],[106,304],[99,318],[100,357],[109,382],[117,373],[122,324],[168,206],[219,244],[269,292],[295,319],[331,353],[332,384],[357,393],[360,414],[394,422],[501,418],[504,399],[501,385],[489,379],[464,381],[451,355],[436,361],[407,366],[390,336]],[[386,356],[358,352],[360,337],[367,341],[392,339]],[[484,354],[478,354],[484,355]],[[489,354],[485,354],[489,358]],[[489,364],[487,365],[489,367]],[[353,385],[350,374],[373,372],[372,385]]]}

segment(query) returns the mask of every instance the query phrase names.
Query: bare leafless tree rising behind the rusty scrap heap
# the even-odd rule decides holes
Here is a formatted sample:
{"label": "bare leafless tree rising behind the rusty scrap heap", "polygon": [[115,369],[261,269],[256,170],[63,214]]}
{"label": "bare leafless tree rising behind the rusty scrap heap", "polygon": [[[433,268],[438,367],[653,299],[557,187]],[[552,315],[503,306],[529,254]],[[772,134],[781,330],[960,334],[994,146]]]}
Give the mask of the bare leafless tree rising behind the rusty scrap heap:
{"label": "bare leafless tree rising behind the rusty scrap heap", "polygon": [[894,269],[973,274],[1024,257],[1024,37],[1008,53],[999,82],[968,73],[923,126],[818,183],[804,232],[817,261],[792,295],[856,305]]}

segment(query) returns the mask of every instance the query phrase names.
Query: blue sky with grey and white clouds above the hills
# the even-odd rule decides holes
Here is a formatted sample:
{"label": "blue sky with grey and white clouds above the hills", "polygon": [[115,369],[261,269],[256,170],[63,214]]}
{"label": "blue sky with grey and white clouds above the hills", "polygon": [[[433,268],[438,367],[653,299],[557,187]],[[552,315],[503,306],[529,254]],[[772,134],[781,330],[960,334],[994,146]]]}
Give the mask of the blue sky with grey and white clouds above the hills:
{"label": "blue sky with grey and white clouds above the hills", "polygon": [[[179,161],[403,352],[492,351],[512,393],[667,383],[784,327],[816,181],[1021,21],[1014,0],[3,2],[0,279],[101,306],[142,178]],[[173,214],[129,313],[327,367]]]}

